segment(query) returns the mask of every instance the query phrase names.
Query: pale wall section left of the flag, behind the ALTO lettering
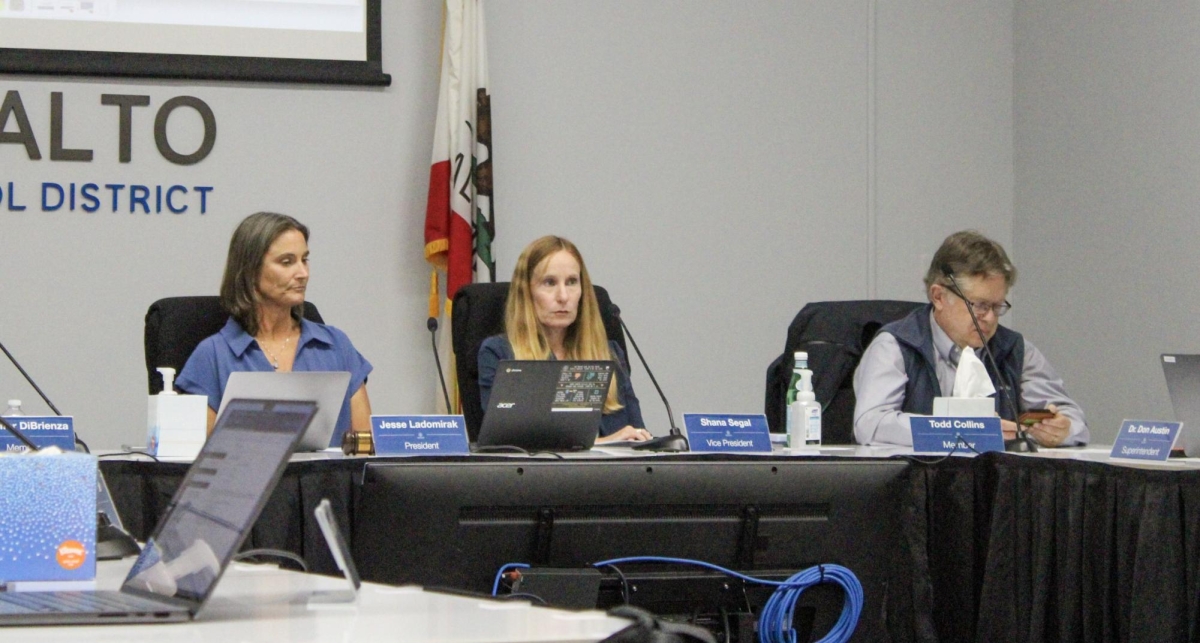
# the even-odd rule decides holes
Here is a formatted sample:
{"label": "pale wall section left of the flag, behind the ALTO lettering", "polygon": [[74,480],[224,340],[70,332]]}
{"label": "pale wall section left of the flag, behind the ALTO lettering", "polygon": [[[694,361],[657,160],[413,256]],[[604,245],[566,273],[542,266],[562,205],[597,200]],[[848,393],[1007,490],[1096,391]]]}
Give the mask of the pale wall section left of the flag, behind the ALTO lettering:
{"label": "pale wall section left of the flag, behind the ALTO lettering", "polygon": [[[29,161],[24,148],[0,145],[0,185],[14,181],[29,206],[10,212],[0,203],[0,341],[76,416],[92,447],[144,440],[146,308],[162,296],[216,294],[233,228],[263,209],[312,229],[308,296],[374,365],[374,407],[424,409],[432,399],[421,226],[440,10],[385,5],[384,67],[394,78],[386,89],[0,77],[0,96],[20,92],[43,155]],[[52,91],[64,92],[66,144],[94,149],[92,162],[48,160]],[[134,112],[132,163],[116,162],[116,109],[100,104],[106,92],[151,97],[150,108]],[[193,167],[172,166],[154,145],[154,112],[178,95],[204,100],[217,120],[212,154]],[[181,151],[198,140],[199,119],[188,112],[170,121]],[[204,216],[194,206],[186,215],[131,215],[124,204],[118,214],[43,214],[42,181],[215,191]],[[10,396],[26,411],[47,410],[2,363],[0,397]]]}

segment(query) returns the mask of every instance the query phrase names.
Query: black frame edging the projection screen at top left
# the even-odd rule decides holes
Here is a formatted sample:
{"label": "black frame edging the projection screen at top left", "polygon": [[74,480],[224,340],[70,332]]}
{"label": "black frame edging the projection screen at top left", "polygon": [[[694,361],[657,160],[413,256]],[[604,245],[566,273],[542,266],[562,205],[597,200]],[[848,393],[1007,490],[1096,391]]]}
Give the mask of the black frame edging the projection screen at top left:
{"label": "black frame edging the projection screen at top left", "polygon": [[383,72],[380,0],[367,0],[366,12],[365,61],[0,47],[0,73],[388,86],[391,76]]}

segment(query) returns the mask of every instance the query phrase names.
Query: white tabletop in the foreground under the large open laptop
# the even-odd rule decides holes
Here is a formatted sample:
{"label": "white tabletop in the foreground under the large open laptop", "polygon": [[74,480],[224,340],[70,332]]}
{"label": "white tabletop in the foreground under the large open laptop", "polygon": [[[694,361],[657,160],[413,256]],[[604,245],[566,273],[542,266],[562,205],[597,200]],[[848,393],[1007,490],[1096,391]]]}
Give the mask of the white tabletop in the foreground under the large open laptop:
{"label": "white tabletop in the foreground under the large open laptop", "polygon": [[[118,589],[132,559],[102,561],[98,589]],[[632,621],[599,611],[566,612],[528,601],[496,601],[364,583],[234,563],[196,620],[173,624],[0,627],[5,641],[30,642],[328,642],[440,641],[518,643],[602,641]]]}

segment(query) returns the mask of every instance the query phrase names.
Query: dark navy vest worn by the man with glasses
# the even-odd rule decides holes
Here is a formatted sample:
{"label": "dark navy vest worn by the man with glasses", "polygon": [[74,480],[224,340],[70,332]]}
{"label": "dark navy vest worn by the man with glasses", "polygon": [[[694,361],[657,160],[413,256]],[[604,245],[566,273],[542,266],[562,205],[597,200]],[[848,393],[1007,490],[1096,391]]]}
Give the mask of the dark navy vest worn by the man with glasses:
{"label": "dark navy vest worn by the man with glasses", "polygon": [[[896,342],[900,344],[900,353],[904,355],[904,369],[908,375],[908,384],[905,385],[904,391],[904,405],[900,409],[904,413],[929,415],[934,413],[934,398],[943,395],[942,386],[937,381],[937,368],[935,367],[937,363],[937,349],[934,348],[934,331],[930,329],[930,311],[932,310],[932,304],[923,306],[908,316],[880,329],[880,332],[890,332],[896,338]],[[996,335],[988,342],[988,348],[991,349],[992,356],[996,357],[996,365],[1003,371],[1004,378],[1014,386],[1016,408],[1020,409],[1025,339],[1021,337],[1021,333],[1014,330],[997,326]],[[1001,399],[1006,385],[1002,385],[996,379],[996,373],[992,372],[988,359],[982,354],[979,359],[988,367],[988,375],[991,378],[991,383],[997,391],[996,410],[1000,411],[1001,417],[1015,422],[1016,417],[1012,416],[1012,405],[1007,401]],[[949,395],[949,391],[946,395]]]}

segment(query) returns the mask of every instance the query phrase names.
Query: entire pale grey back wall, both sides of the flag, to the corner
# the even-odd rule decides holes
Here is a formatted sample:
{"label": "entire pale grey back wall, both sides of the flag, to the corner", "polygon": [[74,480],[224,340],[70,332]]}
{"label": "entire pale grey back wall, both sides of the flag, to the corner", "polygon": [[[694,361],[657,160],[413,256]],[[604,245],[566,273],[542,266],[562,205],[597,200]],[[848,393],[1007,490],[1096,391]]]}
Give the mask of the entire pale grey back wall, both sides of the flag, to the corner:
{"label": "entire pale grey back wall, both sides of the flag, to the corner", "polygon": [[[91,176],[217,187],[204,217],[0,204],[0,341],[94,446],[142,439],[146,306],[215,292],[229,233],[258,209],[312,227],[310,298],[374,363],[374,409],[432,410],[420,253],[440,11],[384,5],[383,90],[0,77],[43,154],[50,91],[66,94],[67,144],[97,154],[30,162],[0,145],[26,191]],[[805,302],[919,298],[944,234],[1012,240],[1012,13],[1008,1],[488,4],[500,274],[534,238],[571,238],[677,414],[761,411],[766,367]],[[118,164],[115,109],[98,104],[109,91],[204,98],[215,151],[169,166],[142,118],[134,163]],[[186,119],[172,125],[190,136]],[[635,383],[662,432],[644,373]],[[41,410],[0,367],[8,395]]]}

